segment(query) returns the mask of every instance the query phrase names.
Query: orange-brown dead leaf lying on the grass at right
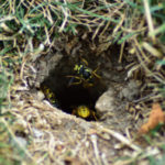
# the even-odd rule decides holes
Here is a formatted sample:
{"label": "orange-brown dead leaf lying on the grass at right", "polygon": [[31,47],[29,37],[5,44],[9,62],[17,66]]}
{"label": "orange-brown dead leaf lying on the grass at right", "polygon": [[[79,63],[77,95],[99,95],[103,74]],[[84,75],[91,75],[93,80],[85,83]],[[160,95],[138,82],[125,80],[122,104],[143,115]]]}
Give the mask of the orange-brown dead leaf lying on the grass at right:
{"label": "orange-brown dead leaf lying on the grass at right", "polygon": [[153,103],[148,121],[141,127],[139,133],[145,134],[160,123],[165,123],[165,113],[163,112],[160,103]]}

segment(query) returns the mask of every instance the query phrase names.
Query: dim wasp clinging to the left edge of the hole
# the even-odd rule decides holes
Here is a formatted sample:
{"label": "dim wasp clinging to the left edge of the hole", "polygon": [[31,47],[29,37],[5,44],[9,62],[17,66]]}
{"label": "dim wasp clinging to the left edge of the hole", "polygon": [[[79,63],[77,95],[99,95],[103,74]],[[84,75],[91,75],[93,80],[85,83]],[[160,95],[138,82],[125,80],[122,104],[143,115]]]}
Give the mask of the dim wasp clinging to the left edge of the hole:
{"label": "dim wasp clinging to the left edge of the hole", "polygon": [[50,103],[52,103],[54,107],[59,107],[59,105],[58,105],[58,101],[57,101],[57,99],[56,99],[56,97],[55,97],[55,95],[54,95],[54,92],[47,87],[47,86],[43,86],[42,87],[42,91],[44,92],[44,95],[45,95],[45,99],[50,102]]}

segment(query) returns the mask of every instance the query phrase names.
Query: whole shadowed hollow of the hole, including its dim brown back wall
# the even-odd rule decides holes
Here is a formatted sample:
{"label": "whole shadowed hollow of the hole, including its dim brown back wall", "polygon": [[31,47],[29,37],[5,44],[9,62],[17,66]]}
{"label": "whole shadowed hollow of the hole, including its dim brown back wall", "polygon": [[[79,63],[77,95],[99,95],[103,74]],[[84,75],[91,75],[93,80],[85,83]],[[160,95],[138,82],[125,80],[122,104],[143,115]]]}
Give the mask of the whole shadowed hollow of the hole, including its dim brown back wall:
{"label": "whole shadowed hollow of the hole, including its dim brown back wall", "polygon": [[[72,114],[73,110],[79,106],[86,106],[96,111],[96,101],[109,88],[110,81],[123,81],[124,79],[124,74],[116,69],[119,66],[119,45],[112,46],[101,55],[96,55],[89,45],[89,43],[82,42],[82,47],[76,55],[64,53],[65,55],[55,68],[51,69],[50,76],[42,84],[54,92],[59,103],[58,108],[66,113]],[[97,70],[101,78],[92,75],[92,86],[87,88],[82,84],[69,86],[72,78],[68,76],[76,76],[74,67],[79,65],[82,59],[86,59],[84,65],[91,72]],[[76,78],[74,80],[79,81]]]}

